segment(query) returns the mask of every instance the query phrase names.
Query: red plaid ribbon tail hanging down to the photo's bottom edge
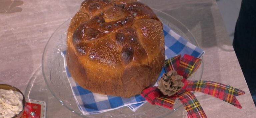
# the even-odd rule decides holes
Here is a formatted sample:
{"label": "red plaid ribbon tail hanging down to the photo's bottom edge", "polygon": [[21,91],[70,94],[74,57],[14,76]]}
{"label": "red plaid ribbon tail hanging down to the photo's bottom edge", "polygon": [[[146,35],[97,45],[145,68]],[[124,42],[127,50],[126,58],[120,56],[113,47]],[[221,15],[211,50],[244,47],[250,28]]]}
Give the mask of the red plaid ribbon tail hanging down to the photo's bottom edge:
{"label": "red plaid ribbon tail hanging down to the photo's bottom edge", "polygon": [[192,92],[184,91],[178,94],[178,98],[184,105],[188,118],[207,118],[201,105]]}

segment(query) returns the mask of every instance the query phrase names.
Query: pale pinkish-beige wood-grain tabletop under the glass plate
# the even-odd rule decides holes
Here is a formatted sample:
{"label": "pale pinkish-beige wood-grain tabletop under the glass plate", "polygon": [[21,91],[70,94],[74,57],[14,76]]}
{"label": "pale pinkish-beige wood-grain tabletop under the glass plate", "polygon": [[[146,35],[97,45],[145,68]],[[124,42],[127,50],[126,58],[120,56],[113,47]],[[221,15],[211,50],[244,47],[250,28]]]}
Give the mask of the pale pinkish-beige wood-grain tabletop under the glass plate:
{"label": "pale pinkish-beige wood-grain tabletop under the glass plate", "polygon": [[[52,33],[71,18],[83,0],[0,0],[0,83],[10,84],[23,93],[37,71],[41,73],[44,47]],[[242,105],[238,109],[222,100],[203,93],[195,93],[209,118],[253,118],[256,108],[236,58],[215,0],[144,0],[152,8],[161,10],[181,21],[195,36],[205,51],[202,80],[229,84],[245,91],[237,96]],[[41,78],[42,79],[42,78]],[[40,84],[45,85],[44,81]],[[34,85],[35,86],[35,85]],[[41,91],[41,90],[40,90]],[[79,117],[62,106],[47,90],[47,117]],[[40,95],[39,95],[40,96]],[[51,106],[51,107],[50,107]],[[168,117],[186,117],[179,109]]]}

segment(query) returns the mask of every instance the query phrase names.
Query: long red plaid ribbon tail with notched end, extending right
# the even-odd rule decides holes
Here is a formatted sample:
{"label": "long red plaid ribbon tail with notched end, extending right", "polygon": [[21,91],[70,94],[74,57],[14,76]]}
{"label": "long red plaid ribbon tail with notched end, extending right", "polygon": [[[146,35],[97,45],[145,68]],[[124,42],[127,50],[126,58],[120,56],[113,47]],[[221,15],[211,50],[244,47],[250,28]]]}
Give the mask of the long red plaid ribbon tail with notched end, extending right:
{"label": "long red plaid ribbon tail with notched end, extending right", "polygon": [[213,81],[190,81],[187,80],[186,91],[203,92],[214,97],[217,97],[225,102],[234,105],[237,108],[242,108],[236,96],[245,94],[244,91]]}

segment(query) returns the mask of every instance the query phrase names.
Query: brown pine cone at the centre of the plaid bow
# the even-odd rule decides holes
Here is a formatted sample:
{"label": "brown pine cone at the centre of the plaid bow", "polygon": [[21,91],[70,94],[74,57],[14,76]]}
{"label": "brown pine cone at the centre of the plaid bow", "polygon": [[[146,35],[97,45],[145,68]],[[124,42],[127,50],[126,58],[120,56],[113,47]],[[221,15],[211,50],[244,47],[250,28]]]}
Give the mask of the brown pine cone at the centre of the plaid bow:
{"label": "brown pine cone at the centre of the plaid bow", "polygon": [[178,75],[175,70],[164,73],[160,80],[158,80],[158,89],[168,96],[174,95],[178,92],[184,83],[181,81],[183,77]]}

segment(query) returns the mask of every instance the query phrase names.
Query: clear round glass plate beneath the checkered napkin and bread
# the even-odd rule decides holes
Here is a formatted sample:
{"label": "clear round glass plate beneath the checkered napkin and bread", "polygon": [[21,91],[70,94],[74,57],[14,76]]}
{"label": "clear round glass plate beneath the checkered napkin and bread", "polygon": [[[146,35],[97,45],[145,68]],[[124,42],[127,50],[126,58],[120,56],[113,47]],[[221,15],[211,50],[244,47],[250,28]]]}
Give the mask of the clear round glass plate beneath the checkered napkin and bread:
{"label": "clear round glass plate beneath the checkered napkin and bread", "polygon": [[[198,43],[196,42],[194,36],[180,21],[162,11],[156,9],[153,9],[153,11],[164,24],[169,26],[174,32],[188,40],[190,43],[198,47]],[[60,101],[60,104],[83,117],[163,117],[171,114],[178,108],[183,108],[183,105],[179,100],[175,101],[173,110],[158,105],[151,105],[147,102],[136,112],[133,112],[127,106],[125,106],[100,114],[83,115],[82,112],[78,109],[72,94],[72,90],[65,73],[63,58],[61,56],[61,51],[66,50],[66,33],[69,23],[70,19],[64,22],[52,34],[49,41],[47,42],[47,45],[45,46],[42,59],[44,80],[53,96],[55,96],[55,98]],[[203,63],[200,65],[198,70],[188,79],[201,80],[202,74]]]}

